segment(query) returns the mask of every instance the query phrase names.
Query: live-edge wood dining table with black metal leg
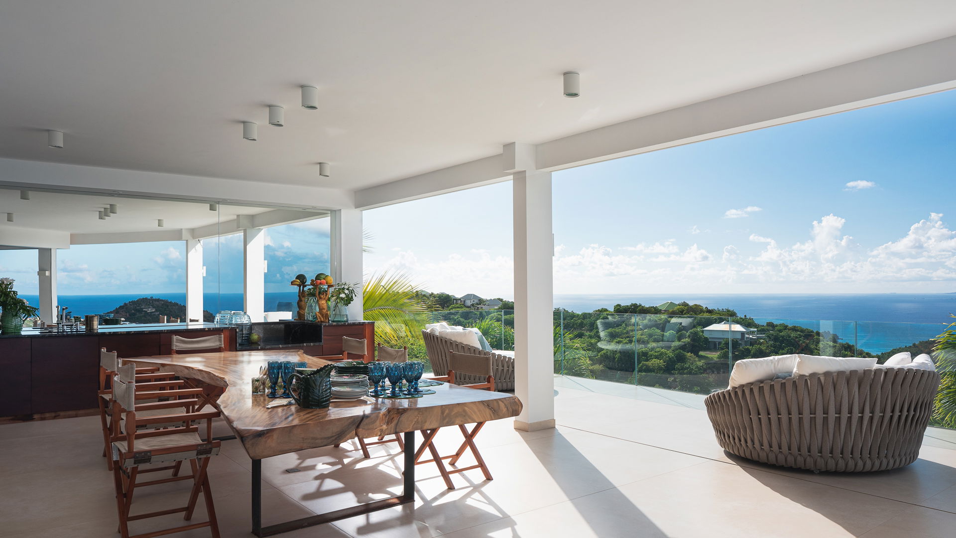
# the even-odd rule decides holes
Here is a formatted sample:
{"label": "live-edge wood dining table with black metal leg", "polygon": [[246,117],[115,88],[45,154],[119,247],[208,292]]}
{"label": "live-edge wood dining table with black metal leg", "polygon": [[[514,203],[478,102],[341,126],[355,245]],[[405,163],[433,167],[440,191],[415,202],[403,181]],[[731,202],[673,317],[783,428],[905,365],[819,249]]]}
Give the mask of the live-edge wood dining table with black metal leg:
{"label": "live-edge wood dining table with black metal leg", "polygon": [[[252,459],[252,533],[272,536],[367,514],[415,500],[415,431],[516,416],[521,401],[504,392],[449,385],[430,387],[421,398],[333,400],[328,409],[282,406],[266,409],[265,394],[253,394],[251,379],[267,361],[305,361],[319,368],[327,361],[297,350],[225,351],[133,357],[138,366],[172,372],[206,393]],[[444,372],[439,372],[444,374]],[[337,444],[354,437],[404,434],[402,495],[262,527],[262,460],[280,454]]]}

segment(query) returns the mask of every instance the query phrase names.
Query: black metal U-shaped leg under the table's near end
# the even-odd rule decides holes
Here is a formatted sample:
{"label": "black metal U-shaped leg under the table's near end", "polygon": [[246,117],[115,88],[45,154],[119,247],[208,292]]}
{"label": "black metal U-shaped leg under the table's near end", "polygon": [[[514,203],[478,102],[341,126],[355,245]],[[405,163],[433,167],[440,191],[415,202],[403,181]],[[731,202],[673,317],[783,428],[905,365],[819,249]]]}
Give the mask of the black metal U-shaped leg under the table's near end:
{"label": "black metal U-shaped leg under the table's near end", "polygon": [[415,501],[415,432],[405,432],[404,443],[405,468],[402,477],[402,495],[270,525],[269,527],[262,527],[262,460],[252,460],[252,534],[260,538],[262,536],[273,536],[299,528],[313,527],[323,523],[332,523],[341,519],[370,514]]}

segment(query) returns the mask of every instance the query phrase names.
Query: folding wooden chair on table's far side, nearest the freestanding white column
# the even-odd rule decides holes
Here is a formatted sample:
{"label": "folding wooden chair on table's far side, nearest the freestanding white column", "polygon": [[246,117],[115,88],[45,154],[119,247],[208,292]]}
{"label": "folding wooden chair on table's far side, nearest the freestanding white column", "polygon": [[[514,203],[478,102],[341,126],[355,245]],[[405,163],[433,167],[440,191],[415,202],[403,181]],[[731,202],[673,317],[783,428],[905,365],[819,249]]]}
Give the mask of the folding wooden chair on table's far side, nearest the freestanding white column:
{"label": "folding wooden chair on table's far side, nearest the freestanding white column", "polygon": [[[468,353],[449,351],[448,375],[442,377],[433,377],[432,379],[436,379],[438,381],[447,381],[448,383],[454,385],[455,372],[485,376],[485,383],[460,385],[460,387],[494,391],[494,376],[491,374],[490,355],[471,355]],[[481,432],[481,429],[484,426],[484,422],[479,422],[475,424],[474,428],[468,431],[465,424],[459,424],[458,428],[462,431],[462,436],[465,437],[465,441],[461,444],[461,446],[458,447],[458,450],[450,456],[440,456],[438,449],[435,448],[435,436],[438,435],[438,431],[441,428],[435,428],[434,430],[422,430],[422,436],[424,439],[422,440],[422,445],[419,446],[419,449],[415,452],[415,464],[421,465],[423,463],[430,463],[434,461],[435,465],[438,466],[438,472],[442,474],[442,479],[445,480],[445,485],[448,486],[448,489],[455,488],[455,484],[451,482],[451,475],[469,471],[471,469],[481,469],[482,473],[485,475],[485,480],[493,480],[491,478],[491,473],[488,470],[488,465],[486,465],[485,460],[482,459],[481,454],[478,452],[478,447],[475,446],[474,441],[475,436],[478,435],[478,432]],[[422,460],[425,450],[431,454],[431,460]],[[459,469],[448,469],[445,467],[445,460],[448,460],[448,464],[454,465],[462,458],[462,456],[465,455],[466,450],[471,452],[471,455],[474,456],[477,464]]]}

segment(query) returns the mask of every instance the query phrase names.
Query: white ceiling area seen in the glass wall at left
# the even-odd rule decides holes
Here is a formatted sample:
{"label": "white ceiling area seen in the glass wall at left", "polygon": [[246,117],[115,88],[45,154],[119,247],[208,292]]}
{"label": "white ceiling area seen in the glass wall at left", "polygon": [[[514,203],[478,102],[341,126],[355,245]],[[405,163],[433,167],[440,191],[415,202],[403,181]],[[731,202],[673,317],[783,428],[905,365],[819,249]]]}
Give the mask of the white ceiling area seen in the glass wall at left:
{"label": "white ceiling area seen in the glass wall at left", "polygon": [[[99,220],[98,211],[117,204],[117,214]],[[70,234],[114,234],[193,229],[215,225],[231,226],[236,215],[259,214],[272,208],[250,208],[219,204],[209,211],[206,202],[182,202],[119,196],[95,196],[66,192],[30,191],[30,200],[21,200],[20,191],[0,189],[0,227],[50,230]],[[5,213],[13,213],[7,222]],[[157,224],[163,219],[163,228]],[[230,228],[231,231],[231,228]]]}

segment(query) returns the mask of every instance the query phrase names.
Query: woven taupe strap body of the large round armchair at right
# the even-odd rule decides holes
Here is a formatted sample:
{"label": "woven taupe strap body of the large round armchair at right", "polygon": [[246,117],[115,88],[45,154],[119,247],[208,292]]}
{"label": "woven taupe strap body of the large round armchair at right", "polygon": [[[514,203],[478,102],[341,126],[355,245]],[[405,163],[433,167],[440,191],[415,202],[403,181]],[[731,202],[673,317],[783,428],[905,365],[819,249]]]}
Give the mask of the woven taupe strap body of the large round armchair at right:
{"label": "woven taupe strap body of the large round armchair at right", "polygon": [[709,394],[724,450],[812,471],[883,471],[912,463],[940,374],[877,368],[758,381]]}

